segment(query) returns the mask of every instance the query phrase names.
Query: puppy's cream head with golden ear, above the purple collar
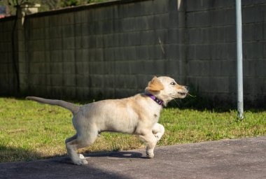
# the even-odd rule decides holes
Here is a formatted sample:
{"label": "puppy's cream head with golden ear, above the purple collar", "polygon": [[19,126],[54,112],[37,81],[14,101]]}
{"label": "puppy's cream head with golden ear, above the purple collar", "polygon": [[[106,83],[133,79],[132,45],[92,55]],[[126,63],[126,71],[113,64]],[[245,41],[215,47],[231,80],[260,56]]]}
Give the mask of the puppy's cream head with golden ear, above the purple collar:
{"label": "puppy's cream head with golden ear, above the purple collar", "polygon": [[185,98],[188,90],[185,86],[179,85],[173,78],[167,76],[154,77],[145,89],[146,92],[153,94],[158,99],[168,103],[172,99]]}

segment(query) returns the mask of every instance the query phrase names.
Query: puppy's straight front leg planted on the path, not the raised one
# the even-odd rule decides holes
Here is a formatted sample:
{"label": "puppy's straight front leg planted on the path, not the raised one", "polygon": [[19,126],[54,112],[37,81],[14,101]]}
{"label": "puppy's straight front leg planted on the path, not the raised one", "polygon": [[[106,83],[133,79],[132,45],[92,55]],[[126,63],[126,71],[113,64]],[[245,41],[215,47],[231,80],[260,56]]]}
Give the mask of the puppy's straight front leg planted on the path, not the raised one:
{"label": "puppy's straight front leg planted on the path, not the raised one", "polygon": [[146,132],[143,135],[139,135],[142,141],[146,143],[146,155],[149,159],[154,157],[153,150],[157,143],[157,138],[153,135],[152,131]]}

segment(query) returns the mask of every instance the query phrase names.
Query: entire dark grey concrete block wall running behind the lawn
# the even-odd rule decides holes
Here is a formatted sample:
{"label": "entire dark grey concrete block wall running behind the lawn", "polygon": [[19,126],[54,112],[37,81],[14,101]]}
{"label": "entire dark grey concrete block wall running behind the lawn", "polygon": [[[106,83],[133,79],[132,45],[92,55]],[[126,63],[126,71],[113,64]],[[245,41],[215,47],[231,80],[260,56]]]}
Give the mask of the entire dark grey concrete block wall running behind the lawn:
{"label": "entire dark grey concrete block wall running behind the lawn", "polygon": [[[262,107],[266,1],[242,5],[244,99]],[[10,20],[0,20],[1,39],[10,33],[5,23]],[[235,1],[118,0],[66,8],[27,15],[18,36],[20,87],[27,94],[120,98],[143,92],[156,75],[193,86],[214,104],[237,100]],[[1,48],[1,57],[10,66],[10,50]],[[6,69],[0,85],[8,91],[14,78]]]}

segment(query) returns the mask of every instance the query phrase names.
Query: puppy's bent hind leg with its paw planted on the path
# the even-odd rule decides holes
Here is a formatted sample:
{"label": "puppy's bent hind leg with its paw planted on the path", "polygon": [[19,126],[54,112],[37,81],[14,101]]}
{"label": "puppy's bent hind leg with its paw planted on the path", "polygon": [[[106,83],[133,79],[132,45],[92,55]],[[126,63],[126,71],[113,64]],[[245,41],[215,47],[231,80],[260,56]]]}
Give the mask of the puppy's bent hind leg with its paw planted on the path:
{"label": "puppy's bent hind leg with its paw planted on the path", "polygon": [[87,136],[72,136],[71,138],[66,139],[66,150],[71,158],[72,162],[77,165],[87,164],[87,160],[83,155],[78,155],[76,150],[79,148],[85,148],[88,145],[94,143],[98,136],[97,132],[90,132]]}

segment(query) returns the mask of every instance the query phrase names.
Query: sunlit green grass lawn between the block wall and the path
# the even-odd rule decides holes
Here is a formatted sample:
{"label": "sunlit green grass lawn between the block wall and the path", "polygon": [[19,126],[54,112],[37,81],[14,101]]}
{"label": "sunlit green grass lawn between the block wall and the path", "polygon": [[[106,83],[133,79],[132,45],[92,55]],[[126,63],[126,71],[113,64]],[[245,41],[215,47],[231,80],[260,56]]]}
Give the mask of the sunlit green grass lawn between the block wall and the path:
{"label": "sunlit green grass lawn between the block wall and the path", "polygon": [[[165,108],[160,123],[165,135],[158,145],[196,143],[223,138],[265,136],[266,111],[237,112]],[[66,155],[65,138],[73,136],[71,113],[64,108],[34,101],[0,98],[0,162],[28,161]],[[136,136],[104,133],[93,145],[79,152],[144,148]]]}

